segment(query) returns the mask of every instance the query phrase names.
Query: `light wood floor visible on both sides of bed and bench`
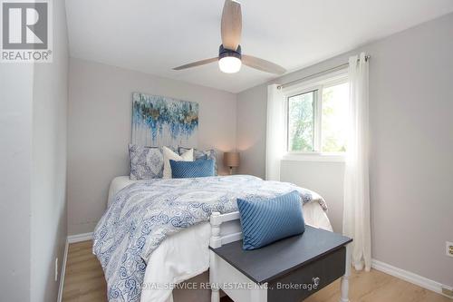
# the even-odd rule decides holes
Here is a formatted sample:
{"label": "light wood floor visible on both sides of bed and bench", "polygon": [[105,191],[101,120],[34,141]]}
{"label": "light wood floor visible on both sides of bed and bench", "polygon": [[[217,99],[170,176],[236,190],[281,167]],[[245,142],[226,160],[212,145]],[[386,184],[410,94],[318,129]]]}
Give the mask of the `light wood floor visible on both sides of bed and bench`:
{"label": "light wood floor visible on both sides of bed and bench", "polygon": [[[399,278],[391,277],[376,269],[357,273],[352,269],[350,298],[352,302],[452,302],[427,289],[417,287]],[[92,255],[92,241],[73,243],[69,246],[64,277],[64,302],[103,302],[106,284],[101,265]],[[338,302],[340,281],[309,297],[305,302]],[[222,302],[231,301],[228,298]]]}

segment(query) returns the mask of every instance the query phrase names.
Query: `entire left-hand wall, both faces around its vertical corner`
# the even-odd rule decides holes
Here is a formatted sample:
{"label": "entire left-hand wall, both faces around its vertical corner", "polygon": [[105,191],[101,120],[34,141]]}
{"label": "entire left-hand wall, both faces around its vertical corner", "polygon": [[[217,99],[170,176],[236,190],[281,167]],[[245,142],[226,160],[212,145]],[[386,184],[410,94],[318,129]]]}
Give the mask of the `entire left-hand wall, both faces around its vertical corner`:
{"label": "entire left-hand wall, both faces around its vertical corner", "polygon": [[[55,301],[66,239],[68,50],[64,2],[53,3],[53,63],[0,67],[2,301]],[[59,270],[61,267],[59,267]]]}

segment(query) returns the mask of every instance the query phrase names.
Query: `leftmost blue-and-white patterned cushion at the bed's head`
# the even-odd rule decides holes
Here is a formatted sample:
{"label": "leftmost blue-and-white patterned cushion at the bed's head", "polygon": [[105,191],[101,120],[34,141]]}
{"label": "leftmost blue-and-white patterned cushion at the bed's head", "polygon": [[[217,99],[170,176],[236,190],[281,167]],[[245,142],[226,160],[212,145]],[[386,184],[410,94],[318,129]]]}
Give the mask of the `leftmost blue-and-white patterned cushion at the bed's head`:
{"label": "leftmost blue-and-white patterned cushion at the bed's head", "polygon": [[130,180],[150,180],[162,177],[164,157],[159,147],[129,145]]}

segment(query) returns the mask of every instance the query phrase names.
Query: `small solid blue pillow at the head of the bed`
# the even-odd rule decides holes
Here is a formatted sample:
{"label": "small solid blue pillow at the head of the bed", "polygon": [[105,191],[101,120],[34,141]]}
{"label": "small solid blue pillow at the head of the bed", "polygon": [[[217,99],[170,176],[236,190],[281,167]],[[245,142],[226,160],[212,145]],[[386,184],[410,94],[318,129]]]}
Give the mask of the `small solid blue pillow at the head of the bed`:
{"label": "small solid blue pillow at the head of the bed", "polygon": [[195,177],[215,176],[213,160],[172,161],[170,160],[171,177],[188,179]]}

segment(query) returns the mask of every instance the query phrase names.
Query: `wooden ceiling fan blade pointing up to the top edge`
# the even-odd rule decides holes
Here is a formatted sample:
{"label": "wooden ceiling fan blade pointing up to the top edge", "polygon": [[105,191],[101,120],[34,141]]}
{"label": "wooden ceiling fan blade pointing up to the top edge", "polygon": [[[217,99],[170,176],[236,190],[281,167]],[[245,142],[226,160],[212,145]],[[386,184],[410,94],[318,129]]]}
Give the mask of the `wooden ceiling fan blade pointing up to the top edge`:
{"label": "wooden ceiling fan blade pointing up to the top edge", "polygon": [[222,44],[226,49],[236,51],[241,42],[242,13],[241,4],[234,0],[225,0],[222,12]]}

